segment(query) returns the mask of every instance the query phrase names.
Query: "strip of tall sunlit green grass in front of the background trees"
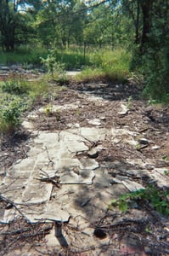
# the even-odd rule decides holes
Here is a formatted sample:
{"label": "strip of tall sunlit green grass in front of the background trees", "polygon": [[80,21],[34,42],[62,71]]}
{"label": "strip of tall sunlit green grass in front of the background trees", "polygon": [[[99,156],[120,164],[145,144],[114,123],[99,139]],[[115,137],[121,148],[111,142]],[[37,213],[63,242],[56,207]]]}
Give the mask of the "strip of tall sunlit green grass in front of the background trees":
{"label": "strip of tall sunlit green grass in front of the background trees", "polygon": [[[23,46],[13,53],[0,52],[2,64],[8,65],[21,63],[25,67],[28,64],[45,64],[47,69],[52,64],[58,68],[58,63],[66,70],[82,69],[82,74],[76,79],[80,81],[89,80],[109,80],[113,82],[124,82],[130,73],[130,62],[132,55],[125,49],[96,49],[87,48],[84,56],[84,49],[81,47],[71,47],[69,49],[51,49],[33,45]],[[42,61],[43,60],[43,61]],[[57,65],[54,65],[54,61]],[[0,63],[0,64],[1,64]]]}

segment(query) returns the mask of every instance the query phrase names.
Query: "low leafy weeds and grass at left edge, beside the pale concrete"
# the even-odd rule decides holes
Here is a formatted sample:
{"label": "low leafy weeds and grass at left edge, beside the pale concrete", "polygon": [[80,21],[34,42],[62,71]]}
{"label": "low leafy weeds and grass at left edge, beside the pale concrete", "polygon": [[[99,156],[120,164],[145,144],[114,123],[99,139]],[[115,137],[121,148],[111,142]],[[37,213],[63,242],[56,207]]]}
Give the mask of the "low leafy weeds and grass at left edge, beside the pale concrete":
{"label": "low leafy weeds and grass at left edge, beside the pale concrete", "polygon": [[13,132],[20,125],[25,110],[31,109],[41,97],[48,97],[48,83],[42,79],[30,82],[10,79],[0,85],[1,132]]}

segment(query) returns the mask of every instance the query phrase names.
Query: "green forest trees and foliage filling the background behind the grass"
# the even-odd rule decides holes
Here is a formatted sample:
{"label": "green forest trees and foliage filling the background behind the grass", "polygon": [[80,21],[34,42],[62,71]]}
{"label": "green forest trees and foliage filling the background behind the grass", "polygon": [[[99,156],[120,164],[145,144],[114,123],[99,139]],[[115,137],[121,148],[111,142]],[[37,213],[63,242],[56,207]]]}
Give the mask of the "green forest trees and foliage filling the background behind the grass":
{"label": "green forest trees and foliage filling the background behind the grass", "polygon": [[144,75],[144,95],[152,100],[169,98],[168,42],[167,0],[0,1],[3,52],[29,45],[59,55],[73,45],[82,47],[85,57],[88,46],[125,49],[132,53],[131,70]]}

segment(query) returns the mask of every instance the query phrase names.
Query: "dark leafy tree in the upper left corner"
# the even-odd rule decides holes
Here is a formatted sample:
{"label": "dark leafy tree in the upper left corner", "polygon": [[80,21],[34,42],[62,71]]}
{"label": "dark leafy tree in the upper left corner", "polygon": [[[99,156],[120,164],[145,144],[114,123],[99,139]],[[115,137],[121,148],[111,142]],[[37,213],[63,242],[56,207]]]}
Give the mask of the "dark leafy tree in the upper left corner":
{"label": "dark leafy tree in the upper left corner", "polygon": [[0,0],[0,44],[3,50],[13,51],[15,44],[26,42],[30,30],[26,12],[35,12],[41,5],[40,0]]}

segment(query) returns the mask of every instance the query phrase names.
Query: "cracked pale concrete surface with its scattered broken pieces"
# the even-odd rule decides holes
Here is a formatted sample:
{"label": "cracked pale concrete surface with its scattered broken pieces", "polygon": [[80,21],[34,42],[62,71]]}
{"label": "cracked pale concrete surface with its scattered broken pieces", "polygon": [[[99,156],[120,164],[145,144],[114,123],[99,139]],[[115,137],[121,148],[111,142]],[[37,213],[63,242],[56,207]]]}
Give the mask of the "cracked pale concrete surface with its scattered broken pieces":
{"label": "cracked pale concrete surface with its scattered broken pieces", "polygon": [[[88,100],[93,101],[93,97]],[[75,105],[72,106],[74,107]],[[127,108],[122,105],[120,114],[126,113]],[[52,132],[34,131],[33,123],[25,120],[25,128],[37,136],[31,138],[27,158],[18,160],[5,171],[0,187],[1,195],[14,201],[15,206],[31,223],[64,223],[70,220],[70,224],[73,224],[78,219],[79,231],[82,232],[84,241],[88,242],[90,237],[91,246],[96,241],[90,223],[107,211],[110,200],[122,193],[144,189],[143,184],[132,180],[133,176],[149,176],[159,186],[169,184],[169,177],[164,179],[164,168],[146,169],[146,164],[153,165],[149,159],[146,162],[136,158],[129,159],[128,162],[132,165],[139,164],[141,171],[125,170],[126,176],[119,174],[111,177],[108,164],[100,164],[96,154],[87,154],[93,148],[95,153],[104,150],[102,144],[105,137],[110,137],[111,143],[119,143],[122,139],[132,147],[136,147],[138,143],[137,132],[127,128],[101,128],[99,125],[102,119],[90,120],[93,127],[81,127],[77,124],[76,128]],[[118,162],[111,163],[111,167],[112,165],[114,168],[121,166]],[[166,169],[169,172],[169,168]],[[9,223],[18,213],[14,207],[8,207],[1,212],[0,221]],[[109,243],[103,243],[106,242]],[[48,246],[55,247],[56,244],[54,234],[48,235]]]}

